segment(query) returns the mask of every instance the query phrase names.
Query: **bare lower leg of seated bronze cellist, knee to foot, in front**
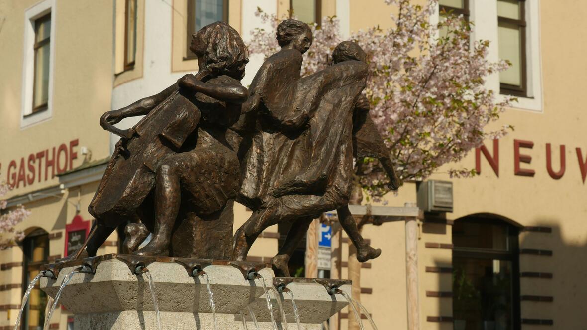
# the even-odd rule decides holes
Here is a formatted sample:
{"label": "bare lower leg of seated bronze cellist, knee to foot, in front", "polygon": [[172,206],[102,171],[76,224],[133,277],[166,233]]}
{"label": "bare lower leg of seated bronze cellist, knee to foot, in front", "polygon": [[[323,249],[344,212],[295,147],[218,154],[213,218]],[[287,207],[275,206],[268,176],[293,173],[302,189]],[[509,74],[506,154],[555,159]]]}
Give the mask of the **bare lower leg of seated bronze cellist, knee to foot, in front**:
{"label": "bare lower leg of seated bronze cellist, knee to foot, in front", "polygon": [[180,209],[181,191],[178,163],[172,158],[159,166],[155,178],[155,223],[153,237],[138,256],[168,256],[171,230]]}

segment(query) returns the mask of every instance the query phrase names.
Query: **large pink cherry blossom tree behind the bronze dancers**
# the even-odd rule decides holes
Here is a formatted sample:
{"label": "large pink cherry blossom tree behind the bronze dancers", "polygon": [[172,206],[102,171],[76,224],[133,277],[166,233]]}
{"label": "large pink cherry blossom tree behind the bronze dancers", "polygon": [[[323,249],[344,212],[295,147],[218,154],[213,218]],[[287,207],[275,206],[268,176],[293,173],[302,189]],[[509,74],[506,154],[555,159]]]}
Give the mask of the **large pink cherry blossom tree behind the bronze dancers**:
{"label": "large pink cherry blossom tree behind the bronze dancers", "polygon": [[[398,174],[404,181],[424,179],[440,166],[460,161],[485,139],[512,129],[510,125],[487,129],[515,99],[485,87],[490,74],[507,69],[510,63],[489,62],[489,42],[471,40],[473,23],[462,16],[443,12],[439,23],[430,23],[437,15],[437,0],[425,5],[410,0],[385,2],[395,7],[390,17],[393,28],[359,30],[350,40],[368,55],[370,76],[364,93]],[[256,15],[271,29],[253,30],[249,50],[270,56],[279,50],[275,31],[285,17],[268,15],[260,8]],[[311,28],[314,41],[304,55],[303,76],[328,66],[332,50],[342,41],[336,17],[324,18],[322,26]],[[358,159],[356,171],[369,195],[387,192],[387,179],[375,159]],[[448,171],[457,177],[475,175],[465,168]]]}

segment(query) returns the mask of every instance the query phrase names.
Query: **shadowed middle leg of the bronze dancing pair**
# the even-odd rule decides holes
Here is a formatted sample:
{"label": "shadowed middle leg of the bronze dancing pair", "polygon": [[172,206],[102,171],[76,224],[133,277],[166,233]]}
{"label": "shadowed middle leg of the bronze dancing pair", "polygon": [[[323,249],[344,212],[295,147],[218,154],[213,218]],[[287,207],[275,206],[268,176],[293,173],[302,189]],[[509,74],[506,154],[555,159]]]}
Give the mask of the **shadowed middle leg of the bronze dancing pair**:
{"label": "shadowed middle leg of the bronze dancing pair", "polygon": [[298,247],[299,242],[303,239],[308,232],[308,228],[315,217],[305,217],[302,219],[295,220],[292,223],[291,228],[285,236],[284,244],[279,248],[279,252],[275,257],[271,258],[271,264],[273,265],[273,273],[279,277],[289,277],[289,258],[294,254],[295,249]]}

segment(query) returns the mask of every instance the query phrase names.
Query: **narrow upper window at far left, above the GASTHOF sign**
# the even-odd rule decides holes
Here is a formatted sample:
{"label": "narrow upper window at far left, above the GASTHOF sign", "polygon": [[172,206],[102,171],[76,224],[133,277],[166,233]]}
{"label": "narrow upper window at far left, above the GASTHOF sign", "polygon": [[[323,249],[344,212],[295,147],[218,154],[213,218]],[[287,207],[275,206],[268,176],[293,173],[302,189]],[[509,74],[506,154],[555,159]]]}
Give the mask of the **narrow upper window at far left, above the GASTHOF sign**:
{"label": "narrow upper window at far left, above the GASTHOF sign", "polygon": [[51,49],[51,14],[35,20],[35,69],[33,107],[29,114],[47,110],[49,104],[49,66]]}

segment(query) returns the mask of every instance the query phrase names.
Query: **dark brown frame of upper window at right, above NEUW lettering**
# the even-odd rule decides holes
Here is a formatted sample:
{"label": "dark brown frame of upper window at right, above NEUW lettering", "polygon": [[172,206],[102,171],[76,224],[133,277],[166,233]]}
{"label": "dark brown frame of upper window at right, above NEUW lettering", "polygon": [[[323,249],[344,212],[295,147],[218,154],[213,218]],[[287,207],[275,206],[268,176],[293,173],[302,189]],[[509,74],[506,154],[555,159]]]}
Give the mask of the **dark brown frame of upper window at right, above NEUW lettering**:
{"label": "dark brown frame of upper window at right, above NEUW lettering", "polygon": [[[499,1],[499,0],[497,0]],[[497,28],[499,29],[500,26],[509,25],[509,26],[517,26],[518,30],[520,31],[520,45],[521,45],[521,60],[520,66],[522,67],[521,72],[521,86],[516,86],[512,84],[505,84],[500,81],[500,94],[503,95],[510,95],[510,96],[519,96],[519,97],[528,97],[528,60],[527,60],[527,23],[526,23],[526,0],[517,0],[519,2],[519,17],[520,19],[511,19],[505,18],[501,16],[497,16]],[[496,2],[497,4],[497,2]],[[499,39],[497,40],[497,44],[499,47]]]}

